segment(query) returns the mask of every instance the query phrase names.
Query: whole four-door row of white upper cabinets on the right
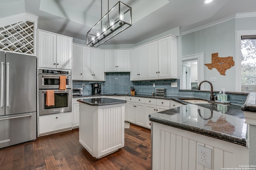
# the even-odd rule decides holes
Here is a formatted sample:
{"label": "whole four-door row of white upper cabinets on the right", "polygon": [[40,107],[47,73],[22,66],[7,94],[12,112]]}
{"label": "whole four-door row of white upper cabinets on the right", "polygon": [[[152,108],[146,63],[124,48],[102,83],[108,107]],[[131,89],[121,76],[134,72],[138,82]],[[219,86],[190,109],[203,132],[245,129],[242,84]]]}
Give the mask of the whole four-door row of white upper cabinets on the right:
{"label": "whole four-door row of white upper cabinets on the right", "polygon": [[177,38],[170,35],[131,50],[130,79],[177,78],[177,64]]}

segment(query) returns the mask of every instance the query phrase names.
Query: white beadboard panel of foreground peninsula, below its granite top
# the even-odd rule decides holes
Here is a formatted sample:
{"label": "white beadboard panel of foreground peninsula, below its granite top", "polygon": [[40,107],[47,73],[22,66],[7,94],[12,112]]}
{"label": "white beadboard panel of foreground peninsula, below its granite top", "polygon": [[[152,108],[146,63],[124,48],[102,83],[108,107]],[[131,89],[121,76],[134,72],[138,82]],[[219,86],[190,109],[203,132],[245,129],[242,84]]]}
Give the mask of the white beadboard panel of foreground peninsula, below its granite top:
{"label": "white beadboard panel of foreground peninsula, below its granite top", "polygon": [[212,149],[212,170],[249,165],[247,147],[156,122],[152,125],[153,170],[208,170],[197,163],[198,145]]}

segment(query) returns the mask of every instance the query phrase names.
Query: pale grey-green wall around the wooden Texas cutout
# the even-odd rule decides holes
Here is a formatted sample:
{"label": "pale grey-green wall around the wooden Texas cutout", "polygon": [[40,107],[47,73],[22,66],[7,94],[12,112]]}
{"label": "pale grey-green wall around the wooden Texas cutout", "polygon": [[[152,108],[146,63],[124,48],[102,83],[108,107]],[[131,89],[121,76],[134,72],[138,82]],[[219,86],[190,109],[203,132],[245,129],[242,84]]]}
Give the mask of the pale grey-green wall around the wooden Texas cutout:
{"label": "pale grey-green wall around the wooden Texas cutout", "polygon": [[[235,60],[235,19],[228,20],[198,31],[182,35],[182,56],[204,53],[204,64],[212,63],[212,53],[218,53],[219,57],[233,57]],[[236,64],[236,63],[235,63]],[[204,80],[216,77],[212,82],[213,90],[235,91],[235,67],[226,70],[226,75],[220,75],[216,68],[209,70],[204,67]],[[210,86],[205,84],[205,90]]]}

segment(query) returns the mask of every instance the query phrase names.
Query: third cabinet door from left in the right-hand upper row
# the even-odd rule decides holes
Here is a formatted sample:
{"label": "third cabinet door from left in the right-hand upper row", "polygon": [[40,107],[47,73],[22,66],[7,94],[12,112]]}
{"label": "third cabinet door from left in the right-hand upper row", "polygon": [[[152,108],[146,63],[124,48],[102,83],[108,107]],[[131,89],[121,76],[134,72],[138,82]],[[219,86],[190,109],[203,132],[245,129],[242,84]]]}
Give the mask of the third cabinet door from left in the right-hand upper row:
{"label": "third cabinet door from left in the right-hand upper row", "polygon": [[158,41],[148,43],[148,79],[158,79]]}

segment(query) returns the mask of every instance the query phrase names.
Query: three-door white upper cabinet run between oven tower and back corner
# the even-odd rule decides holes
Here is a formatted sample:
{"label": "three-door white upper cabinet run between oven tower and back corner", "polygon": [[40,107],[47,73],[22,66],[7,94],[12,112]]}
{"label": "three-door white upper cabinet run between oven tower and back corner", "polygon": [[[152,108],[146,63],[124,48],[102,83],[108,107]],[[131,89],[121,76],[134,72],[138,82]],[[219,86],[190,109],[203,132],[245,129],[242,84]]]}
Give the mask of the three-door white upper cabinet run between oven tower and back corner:
{"label": "three-door white upper cabinet run between oven tower and back corner", "polygon": [[73,80],[104,81],[103,50],[73,44]]}

